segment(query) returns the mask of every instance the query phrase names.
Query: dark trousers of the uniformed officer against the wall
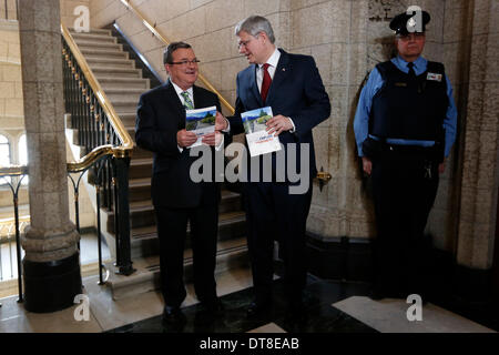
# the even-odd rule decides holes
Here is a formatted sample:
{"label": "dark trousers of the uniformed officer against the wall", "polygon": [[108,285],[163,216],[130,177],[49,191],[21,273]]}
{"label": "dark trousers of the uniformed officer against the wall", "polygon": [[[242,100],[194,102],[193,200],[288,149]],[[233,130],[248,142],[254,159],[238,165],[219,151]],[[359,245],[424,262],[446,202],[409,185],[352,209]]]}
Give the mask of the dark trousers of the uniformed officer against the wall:
{"label": "dark trousers of the uniformed officer against the wall", "polygon": [[430,241],[424,231],[437,195],[438,163],[430,150],[386,150],[373,159],[371,179],[378,230],[375,287],[400,297],[425,294]]}

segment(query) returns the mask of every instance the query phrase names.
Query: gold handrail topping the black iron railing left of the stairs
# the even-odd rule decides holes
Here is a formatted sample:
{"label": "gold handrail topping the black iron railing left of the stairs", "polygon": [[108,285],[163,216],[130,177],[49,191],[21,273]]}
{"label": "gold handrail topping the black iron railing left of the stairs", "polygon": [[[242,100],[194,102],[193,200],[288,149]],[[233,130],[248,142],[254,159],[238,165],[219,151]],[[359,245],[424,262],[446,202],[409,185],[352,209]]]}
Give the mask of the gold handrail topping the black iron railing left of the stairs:
{"label": "gold handrail topping the black iron railing left of the stairs", "polygon": [[[113,155],[116,158],[124,158],[130,156],[132,154],[133,150],[133,141],[130,136],[129,132],[126,132],[123,123],[121,122],[120,118],[118,116],[116,112],[114,111],[113,105],[111,104],[111,101],[105,95],[104,91],[102,90],[101,85],[99,84],[99,81],[95,79],[95,75],[93,74],[92,70],[90,69],[89,64],[86,63],[86,60],[84,59],[83,54],[81,53],[80,49],[78,48],[77,43],[74,42],[73,37],[69,32],[68,28],[61,23],[61,32],[64,37],[65,42],[68,43],[69,48],[71,49],[71,52],[73,53],[74,58],[77,59],[78,64],[80,65],[83,74],[85,75],[90,87],[92,88],[99,103],[101,104],[103,111],[108,115],[111,125],[113,126],[114,131],[116,132],[118,136],[120,138],[122,145],[114,146],[113,148]],[[79,78],[77,78],[78,80]],[[80,81],[80,87],[83,85],[83,82]]]}

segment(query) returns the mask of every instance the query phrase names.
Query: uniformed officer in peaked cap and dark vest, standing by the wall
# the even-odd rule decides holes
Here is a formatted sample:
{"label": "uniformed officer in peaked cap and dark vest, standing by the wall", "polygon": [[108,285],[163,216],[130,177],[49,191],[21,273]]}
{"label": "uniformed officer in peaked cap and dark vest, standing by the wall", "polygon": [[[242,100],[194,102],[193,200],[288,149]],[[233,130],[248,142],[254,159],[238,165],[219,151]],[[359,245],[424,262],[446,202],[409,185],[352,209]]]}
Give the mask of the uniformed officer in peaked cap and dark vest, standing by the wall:
{"label": "uniformed officer in peaked cap and dark vest, standing by the wall", "polygon": [[421,10],[391,20],[398,54],[370,72],[354,120],[358,155],[373,182],[374,300],[419,294],[425,302],[429,291],[424,230],[457,123],[444,64],[421,57],[429,21]]}

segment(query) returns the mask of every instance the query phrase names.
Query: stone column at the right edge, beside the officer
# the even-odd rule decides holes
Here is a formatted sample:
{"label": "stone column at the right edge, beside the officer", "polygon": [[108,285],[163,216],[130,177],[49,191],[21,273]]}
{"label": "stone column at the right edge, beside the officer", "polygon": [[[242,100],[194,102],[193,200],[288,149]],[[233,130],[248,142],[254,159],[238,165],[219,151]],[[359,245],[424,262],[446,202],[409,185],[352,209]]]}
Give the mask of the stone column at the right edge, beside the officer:
{"label": "stone column at the right edge, beside the officer", "polygon": [[471,1],[471,53],[464,133],[457,262],[472,270],[492,266],[498,192],[497,0]]}

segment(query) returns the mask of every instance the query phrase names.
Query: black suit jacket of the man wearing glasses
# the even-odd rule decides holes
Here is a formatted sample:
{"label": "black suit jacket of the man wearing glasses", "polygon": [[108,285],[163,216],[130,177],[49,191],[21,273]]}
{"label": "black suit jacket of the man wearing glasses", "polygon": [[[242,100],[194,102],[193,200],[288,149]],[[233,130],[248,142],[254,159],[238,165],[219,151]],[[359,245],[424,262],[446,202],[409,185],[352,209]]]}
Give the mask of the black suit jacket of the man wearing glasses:
{"label": "black suit jacket of the man wearing glasses", "polygon": [[[216,94],[193,87],[196,109],[216,105]],[[143,93],[136,109],[135,142],[154,153],[152,200],[154,206],[184,209],[220,201],[220,186],[214,182],[194,183],[190,178],[192,163],[190,149],[181,153],[176,133],[185,128],[185,109],[170,80]]]}

